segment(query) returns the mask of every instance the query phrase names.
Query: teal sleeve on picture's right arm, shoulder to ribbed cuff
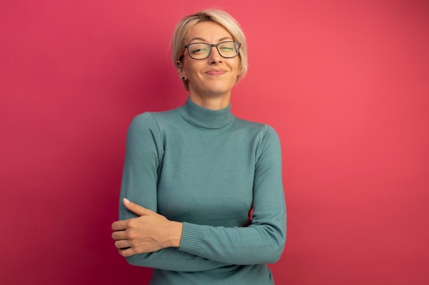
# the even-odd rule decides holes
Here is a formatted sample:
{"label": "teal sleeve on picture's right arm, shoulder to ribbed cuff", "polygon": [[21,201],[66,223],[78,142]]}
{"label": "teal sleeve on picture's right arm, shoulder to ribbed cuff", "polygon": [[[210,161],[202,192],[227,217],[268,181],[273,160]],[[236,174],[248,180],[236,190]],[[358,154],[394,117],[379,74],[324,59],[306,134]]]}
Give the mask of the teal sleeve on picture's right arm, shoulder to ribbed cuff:
{"label": "teal sleeve on picture's right arm, shoulder to ribbed cuff", "polygon": [[247,227],[213,227],[184,223],[180,251],[217,262],[277,262],[286,241],[286,205],[282,186],[280,140],[265,125],[254,176],[254,213]]}

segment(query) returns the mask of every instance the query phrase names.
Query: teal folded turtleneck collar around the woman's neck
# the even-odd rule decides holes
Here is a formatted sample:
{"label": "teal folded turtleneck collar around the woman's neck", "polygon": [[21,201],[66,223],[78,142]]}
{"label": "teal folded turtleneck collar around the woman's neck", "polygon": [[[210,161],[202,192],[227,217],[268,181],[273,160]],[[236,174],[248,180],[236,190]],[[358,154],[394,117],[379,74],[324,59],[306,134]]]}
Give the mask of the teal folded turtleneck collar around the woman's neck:
{"label": "teal folded turtleneck collar around the woman's neck", "polygon": [[235,118],[231,113],[231,104],[220,110],[212,110],[193,103],[190,98],[182,107],[178,107],[177,111],[186,122],[199,128],[223,128]]}

